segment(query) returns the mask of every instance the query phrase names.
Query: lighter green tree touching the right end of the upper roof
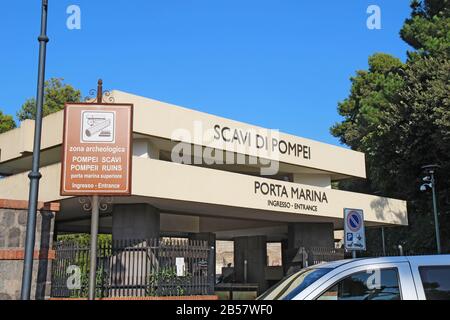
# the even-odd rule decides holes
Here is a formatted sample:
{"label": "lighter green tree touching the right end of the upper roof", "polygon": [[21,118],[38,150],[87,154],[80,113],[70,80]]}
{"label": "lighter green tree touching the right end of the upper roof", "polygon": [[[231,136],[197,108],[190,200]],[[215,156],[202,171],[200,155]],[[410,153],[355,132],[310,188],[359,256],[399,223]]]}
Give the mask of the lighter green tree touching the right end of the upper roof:
{"label": "lighter green tree touching the right end of the upper roof", "polygon": [[383,188],[383,176],[377,165],[386,154],[386,128],[384,123],[392,112],[395,93],[403,87],[403,63],[387,54],[369,58],[369,70],[358,71],[351,78],[350,96],[339,103],[338,112],[344,120],[331,128],[343,144],[366,153],[369,181],[352,182],[346,188],[355,191],[376,192]]}

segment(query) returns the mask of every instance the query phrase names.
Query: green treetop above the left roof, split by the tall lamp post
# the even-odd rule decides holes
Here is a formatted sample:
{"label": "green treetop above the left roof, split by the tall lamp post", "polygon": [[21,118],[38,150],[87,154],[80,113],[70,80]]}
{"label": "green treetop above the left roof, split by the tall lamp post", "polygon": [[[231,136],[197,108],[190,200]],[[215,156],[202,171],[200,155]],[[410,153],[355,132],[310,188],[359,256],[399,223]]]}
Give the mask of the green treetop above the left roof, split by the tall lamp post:
{"label": "green treetop above the left roof, split by the tall lamp post", "polygon": [[[64,84],[61,78],[51,78],[45,82],[44,117],[64,109],[66,102],[80,102],[81,92],[71,85]],[[20,121],[36,118],[36,99],[28,99],[17,113]]]}

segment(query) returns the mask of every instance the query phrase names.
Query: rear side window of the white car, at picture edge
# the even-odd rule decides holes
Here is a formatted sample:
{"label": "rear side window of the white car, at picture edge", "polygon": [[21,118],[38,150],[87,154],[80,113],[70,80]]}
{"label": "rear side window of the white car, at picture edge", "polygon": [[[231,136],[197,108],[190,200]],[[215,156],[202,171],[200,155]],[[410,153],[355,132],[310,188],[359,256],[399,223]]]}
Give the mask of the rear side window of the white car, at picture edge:
{"label": "rear side window of the white car, at picture edge", "polygon": [[450,300],[450,266],[419,268],[427,300]]}

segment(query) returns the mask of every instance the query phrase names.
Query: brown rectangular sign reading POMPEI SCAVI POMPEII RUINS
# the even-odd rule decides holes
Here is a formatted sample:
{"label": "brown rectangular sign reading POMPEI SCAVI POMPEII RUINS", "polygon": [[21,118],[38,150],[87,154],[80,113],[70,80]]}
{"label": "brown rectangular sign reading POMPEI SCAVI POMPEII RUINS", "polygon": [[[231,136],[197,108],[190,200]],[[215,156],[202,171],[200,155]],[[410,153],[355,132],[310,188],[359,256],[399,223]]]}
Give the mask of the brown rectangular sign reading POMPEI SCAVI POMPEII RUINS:
{"label": "brown rectangular sign reading POMPEI SCAVI POMPEII RUINS", "polygon": [[131,195],[133,105],[66,104],[63,196]]}

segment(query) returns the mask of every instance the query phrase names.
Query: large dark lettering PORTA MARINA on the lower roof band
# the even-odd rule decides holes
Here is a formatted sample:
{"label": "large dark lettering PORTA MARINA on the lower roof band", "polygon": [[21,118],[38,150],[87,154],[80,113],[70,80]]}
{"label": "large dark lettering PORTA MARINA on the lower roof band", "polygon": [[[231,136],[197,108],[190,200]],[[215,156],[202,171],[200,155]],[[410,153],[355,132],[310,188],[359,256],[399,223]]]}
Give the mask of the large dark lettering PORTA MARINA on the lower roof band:
{"label": "large dark lettering PORTA MARINA on the lower roof band", "polygon": [[255,181],[254,191],[255,194],[264,196],[328,203],[327,194],[325,192],[295,186],[288,188],[281,184]]}

